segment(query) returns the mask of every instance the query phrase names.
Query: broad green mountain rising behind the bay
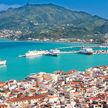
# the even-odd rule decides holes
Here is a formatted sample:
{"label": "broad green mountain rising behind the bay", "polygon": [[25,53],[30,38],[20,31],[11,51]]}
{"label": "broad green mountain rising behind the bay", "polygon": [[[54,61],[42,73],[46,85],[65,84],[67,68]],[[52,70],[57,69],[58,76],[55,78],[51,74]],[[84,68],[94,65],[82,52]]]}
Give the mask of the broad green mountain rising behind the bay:
{"label": "broad green mountain rising behind the bay", "polygon": [[18,39],[100,38],[108,31],[108,20],[54,4],[26,4],[0,12],[0,31]]}

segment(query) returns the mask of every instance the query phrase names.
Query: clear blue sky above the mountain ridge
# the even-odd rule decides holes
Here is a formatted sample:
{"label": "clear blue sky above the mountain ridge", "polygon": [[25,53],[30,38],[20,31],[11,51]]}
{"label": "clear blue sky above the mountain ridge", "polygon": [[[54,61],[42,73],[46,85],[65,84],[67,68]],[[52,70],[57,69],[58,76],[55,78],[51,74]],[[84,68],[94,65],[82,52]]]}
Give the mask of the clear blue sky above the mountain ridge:
{"label": "clear blue sky above the mountain ridge", "polygon": [[54,3],[75,11],[85,11],[92,15],[108,19],[108,0],[0,0],[0,11],[10,7],[23,6],[26,3]]}

